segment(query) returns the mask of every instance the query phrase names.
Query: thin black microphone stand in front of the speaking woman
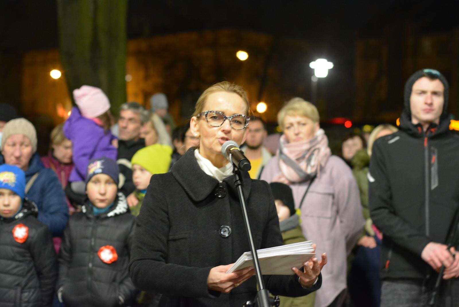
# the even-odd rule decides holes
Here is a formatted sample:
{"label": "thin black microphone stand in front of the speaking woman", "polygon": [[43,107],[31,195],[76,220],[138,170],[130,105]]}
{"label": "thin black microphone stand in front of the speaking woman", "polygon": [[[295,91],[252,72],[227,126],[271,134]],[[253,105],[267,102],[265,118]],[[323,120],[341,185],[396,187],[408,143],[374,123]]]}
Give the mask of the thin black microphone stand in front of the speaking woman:
{"label": "thin black microphone stand in front of the speaking woman", "polygon": [[[231,161],[231,158],[229,159]],[[244,223],[246,224],[246,231],[247,231],[247,238],[249,239],[250,244],[250,251],[252,252],[252,261],[253,266],[255,268],[255,272],[257,274],[257,285],[258,285],[258,292],[257,296],[255,296],[254,301],[247,301],[243,306],[245,307],[272,307],[272,306],[279,306],[280,300],[279,297],[276,296],[274,299],[273,297],[269,296],[269,292],[264,287],[263,282],[263,275],[261,274],[260,269],[260,262],[258,261],[258,254],[257,249],[255,248],[255,244],[253,243],[252,237],[252,229],[250,228],[249,218],[247,216],[247,209],[246,209],[246,201],[244,198],[244,191],[242,190],[242,178],[239,169],[233,163],[233,174],[235,175],[234,184],[239,194],[239,201],[241,202],[242,208],[242,215],[244,216]]]}

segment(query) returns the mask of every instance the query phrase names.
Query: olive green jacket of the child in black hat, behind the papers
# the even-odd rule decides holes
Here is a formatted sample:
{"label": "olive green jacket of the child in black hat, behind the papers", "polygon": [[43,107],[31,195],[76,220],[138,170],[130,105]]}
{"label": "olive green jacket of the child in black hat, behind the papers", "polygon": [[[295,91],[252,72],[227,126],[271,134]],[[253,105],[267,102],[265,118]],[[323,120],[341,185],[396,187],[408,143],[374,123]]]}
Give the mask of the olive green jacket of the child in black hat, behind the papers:
{"label": "olive green jacket of the child in black hat, behind the papers", "polygon": [[[286,230],[284,230],[285,228]],[[284,245],[306,241],[303,236],[297,214],[294,214],[285,221],[282,221],[280,223],[280,231],[282,233]],[[315,296],[315,292],[312,292],[307,296],[300,297],[280,296],[280,307],[314,307]]]}

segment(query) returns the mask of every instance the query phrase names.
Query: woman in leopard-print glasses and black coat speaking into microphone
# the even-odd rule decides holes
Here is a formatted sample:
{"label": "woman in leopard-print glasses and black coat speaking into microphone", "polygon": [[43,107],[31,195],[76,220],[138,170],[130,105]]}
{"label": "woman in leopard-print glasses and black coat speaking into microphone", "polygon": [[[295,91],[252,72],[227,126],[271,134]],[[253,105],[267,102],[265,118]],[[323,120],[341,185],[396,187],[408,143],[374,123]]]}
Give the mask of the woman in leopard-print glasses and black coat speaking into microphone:
{"label": "woman in leopard-print glasses and black coat speaking into microphone", "polygon": [[[171,171],[153,175],[131,248],[129,272],[140,289],[162,293],[159,306],[242,306],[257,293],[254,270],[227,274],[250,251],[232,164],[222,145],[246,139],[249,102],[238,85],[221,82],[196,102],[191,133],[200,138]],[[152,157],[154,158],[154,157]],[[269,185],[241,171],[255,248],[283,244]],[[274,295],[304,296],[319,289],[324,255],[292,275],[265,275]],[[304,272],[303,272],[304,271]]]}

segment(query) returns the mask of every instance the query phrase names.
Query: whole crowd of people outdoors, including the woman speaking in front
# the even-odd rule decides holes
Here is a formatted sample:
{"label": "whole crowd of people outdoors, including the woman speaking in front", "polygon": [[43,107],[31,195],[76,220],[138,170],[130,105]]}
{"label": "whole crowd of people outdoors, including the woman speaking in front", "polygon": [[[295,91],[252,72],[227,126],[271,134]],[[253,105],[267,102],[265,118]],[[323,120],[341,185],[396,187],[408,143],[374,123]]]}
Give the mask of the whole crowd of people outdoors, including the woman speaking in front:
{"label": "whole crowd of people outdoors, including the woman speaking in front", "polygon": [[438,71],[414,73],[400,126],[349,134],[339,155],[313,104],[287,101],[282,134],[268,136],[229,82],[206,89],[178,127],[162,93],[150,111],[127,102],[115,119],[104,92],[83,85],[42,157],[34,125],[1,104],[0,306],[253,299],[252,268],[226,273],[249,251],[221,153],[228,140],[251,162],[241,177],[256,248],[312,240],[318,255],[291,275],[264,276],[280,306],[427,306],[435,291],[442,306],[459,306],[459,240],[447,243],[459,214],[448,92]]}

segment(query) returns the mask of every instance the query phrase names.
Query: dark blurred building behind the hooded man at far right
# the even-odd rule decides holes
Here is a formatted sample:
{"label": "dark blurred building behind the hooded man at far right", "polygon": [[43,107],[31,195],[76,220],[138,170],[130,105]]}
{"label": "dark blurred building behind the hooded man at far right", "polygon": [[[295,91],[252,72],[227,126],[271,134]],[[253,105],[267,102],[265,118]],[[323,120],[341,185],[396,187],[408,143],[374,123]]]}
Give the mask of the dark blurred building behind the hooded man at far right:
{"label": "dark blurred building behind the hooded man at far right", "polygon": [[[422,7],[421,7],[422,8]],[[398,7],[357,34],[355,105],[357,122],[393,123],[403,110],[403,87],[422,68],[439,70],[450,86],[448,111],[459,115],[459,27],[442,26],[441,11],[431,15],[415,7]],[[416,20],[416,21],[412,21]]]}

